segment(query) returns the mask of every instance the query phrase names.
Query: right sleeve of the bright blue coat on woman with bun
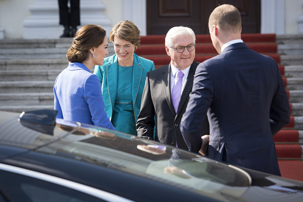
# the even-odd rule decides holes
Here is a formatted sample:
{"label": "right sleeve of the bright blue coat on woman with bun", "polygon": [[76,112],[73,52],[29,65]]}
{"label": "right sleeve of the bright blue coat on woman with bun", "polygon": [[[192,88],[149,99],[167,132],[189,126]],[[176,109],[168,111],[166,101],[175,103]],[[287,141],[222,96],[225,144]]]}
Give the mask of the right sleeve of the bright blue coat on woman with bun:
{"label": "right sleeve of the bright blue coat on woman with bun", "polygon": [[91,74],[85,80],[84,99],[87,102],[92,121],[95,126],[116,130],[110,122],[104,110],[104,101],[101,94],[101,86],[96,75]]}

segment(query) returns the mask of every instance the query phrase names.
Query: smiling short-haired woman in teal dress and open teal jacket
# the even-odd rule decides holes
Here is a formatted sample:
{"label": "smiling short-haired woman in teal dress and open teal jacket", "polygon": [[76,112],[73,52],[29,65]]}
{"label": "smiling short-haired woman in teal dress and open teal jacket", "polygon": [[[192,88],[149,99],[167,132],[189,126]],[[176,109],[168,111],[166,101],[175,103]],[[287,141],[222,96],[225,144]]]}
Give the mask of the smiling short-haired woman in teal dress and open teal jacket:
{"label": "smiling short-haired woman in teal dress and open teal jacket", "polygon": [[154,70],[155,65],[134,53],[140,44],[140,29],[131,21],[115,25],[109,41],[113,42],[116,54],[94,68],[101,83],[105,111],[117,131],[137,135],[146,73]]}

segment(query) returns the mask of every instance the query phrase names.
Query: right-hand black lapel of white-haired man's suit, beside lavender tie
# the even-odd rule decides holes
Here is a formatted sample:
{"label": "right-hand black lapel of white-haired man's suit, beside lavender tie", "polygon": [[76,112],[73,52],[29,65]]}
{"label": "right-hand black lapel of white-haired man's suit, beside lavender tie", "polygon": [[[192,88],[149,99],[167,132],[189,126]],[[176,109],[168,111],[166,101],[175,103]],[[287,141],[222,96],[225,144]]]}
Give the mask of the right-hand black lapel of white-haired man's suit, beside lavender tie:
{"label": "right-hand black lapel of white-haired man's suit, beside lavender tie", "polygon": [[197,63],[196,61],[193,61],[193,63],[191,64],[191,67],[190,67],[188,75],[187,75],[187,79],[184,84],[184,89],[181,94],[177,114],[180,113],[180,110],[182,109],[182,106],[184,105],[186,98],[188,97],[189,93],[191,92],[191,89],[193,87],[193,82],[194,82],[195,71],[196,71],[196,67],[198,66],[198,64],[199,63]]}

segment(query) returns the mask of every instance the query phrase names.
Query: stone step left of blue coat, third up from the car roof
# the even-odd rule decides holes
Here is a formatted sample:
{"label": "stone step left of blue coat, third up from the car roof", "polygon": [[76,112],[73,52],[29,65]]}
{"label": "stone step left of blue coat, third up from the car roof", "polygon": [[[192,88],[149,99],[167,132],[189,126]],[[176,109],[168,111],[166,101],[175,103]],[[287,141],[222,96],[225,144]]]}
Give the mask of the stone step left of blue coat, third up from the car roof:
{"label": "stone step left of blue coat, third up from the car roof", "polygon": [[0,81],[0,93],[53,92],[53,81]]}

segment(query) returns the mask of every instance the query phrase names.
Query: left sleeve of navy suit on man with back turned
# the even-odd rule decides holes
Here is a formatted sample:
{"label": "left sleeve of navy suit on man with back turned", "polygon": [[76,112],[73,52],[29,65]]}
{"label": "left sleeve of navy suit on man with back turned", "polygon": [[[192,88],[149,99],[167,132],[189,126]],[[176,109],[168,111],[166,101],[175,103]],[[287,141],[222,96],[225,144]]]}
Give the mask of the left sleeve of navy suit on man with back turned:
{"label": "left sleeve of navy suit on man with back turned", "polygon": [[214,85],[209,71],[201,63],[195,71],[192,92],[182,116],[180,130],[190,151],[199,152],[202,146],[201,128],[212,102]]}

